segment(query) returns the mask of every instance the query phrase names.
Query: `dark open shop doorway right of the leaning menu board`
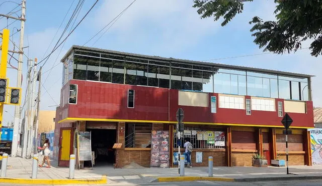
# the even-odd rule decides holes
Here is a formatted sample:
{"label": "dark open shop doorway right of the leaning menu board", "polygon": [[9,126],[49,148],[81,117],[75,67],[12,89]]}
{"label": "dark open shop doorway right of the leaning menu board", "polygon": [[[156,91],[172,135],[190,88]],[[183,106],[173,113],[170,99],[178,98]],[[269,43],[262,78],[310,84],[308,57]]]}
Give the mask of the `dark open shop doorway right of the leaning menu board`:
{"label": "dark open shop doorway right of the leaning menu board", "polygon": [[94,166],[106,166],[115,163],[116,129],[87,129],[92,132],[92,153],[94,152]]}

